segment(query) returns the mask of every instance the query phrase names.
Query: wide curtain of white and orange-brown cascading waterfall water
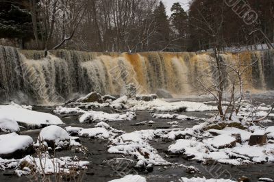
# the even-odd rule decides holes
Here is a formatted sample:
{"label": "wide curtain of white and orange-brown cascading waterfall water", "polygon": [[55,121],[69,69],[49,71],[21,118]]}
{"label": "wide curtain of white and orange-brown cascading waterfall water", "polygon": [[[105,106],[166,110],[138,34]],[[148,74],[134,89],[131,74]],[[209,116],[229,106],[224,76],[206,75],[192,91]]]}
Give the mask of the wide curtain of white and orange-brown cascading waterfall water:
{"label": "wide curtain of white and orange-brown cascading waterfall water", "polygon": [[[245,73],[248,89],[274,89],[274,52],[225,53],[225,62],[247,64],[258,60]],[[97,91],[121,94],[134,83],[138,92],[163,88],[173,94],[197,93],[197,77],[212,79],[210,53],[88,53],[81,51],[25,51],[0,46],[0,99],[18,95],[34,103],[60,102],[73,94]]]}

